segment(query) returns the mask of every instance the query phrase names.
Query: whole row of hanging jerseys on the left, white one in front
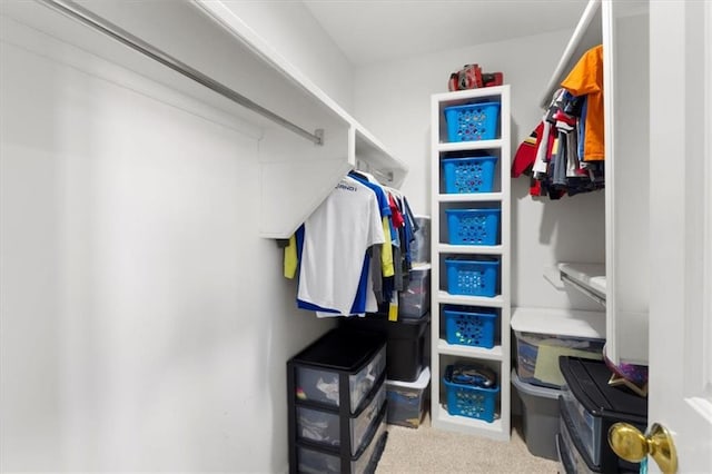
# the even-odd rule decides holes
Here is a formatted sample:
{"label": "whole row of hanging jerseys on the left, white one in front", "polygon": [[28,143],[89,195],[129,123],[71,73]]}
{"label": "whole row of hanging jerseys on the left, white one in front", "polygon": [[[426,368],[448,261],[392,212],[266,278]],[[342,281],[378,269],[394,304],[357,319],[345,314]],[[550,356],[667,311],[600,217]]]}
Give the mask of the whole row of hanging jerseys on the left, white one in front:
{"label": "whole row of hanging jerseys on the left, white one in front", "polygon": [[350,172],[285,247],[285,277],[298,276],[297,307],[363,316],[392,303],[407,287],[414,226],[405,196]]}

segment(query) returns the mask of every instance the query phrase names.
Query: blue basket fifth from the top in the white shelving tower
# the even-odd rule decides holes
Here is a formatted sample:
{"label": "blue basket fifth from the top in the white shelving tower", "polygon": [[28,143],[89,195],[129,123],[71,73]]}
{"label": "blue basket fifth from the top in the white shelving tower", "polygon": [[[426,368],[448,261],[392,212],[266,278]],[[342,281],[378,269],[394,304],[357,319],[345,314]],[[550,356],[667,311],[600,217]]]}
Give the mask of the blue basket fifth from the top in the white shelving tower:
{"label": "blue basket fifth from the top in the white shelving tower", "polygon": [[494,347],[496,312],[446,308],[443,314],[448,344],[488,349]]}

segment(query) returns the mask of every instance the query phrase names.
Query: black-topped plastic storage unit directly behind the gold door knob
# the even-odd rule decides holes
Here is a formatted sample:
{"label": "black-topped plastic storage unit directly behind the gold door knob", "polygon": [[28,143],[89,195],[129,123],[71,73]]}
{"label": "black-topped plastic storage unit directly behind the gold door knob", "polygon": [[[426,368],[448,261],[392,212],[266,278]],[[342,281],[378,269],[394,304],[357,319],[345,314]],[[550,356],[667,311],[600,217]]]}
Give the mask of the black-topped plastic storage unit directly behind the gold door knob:
{"label": "black-topped plastic storage unit directly behind the gold door knob", "polygon": [[[627,388],[609,385],[611,371],[601,361],[560,357],[558,366],[565,379],[560,396],[560,435],[570,457],[582,460],[590,472],[637,472],[639,464],[621,460],[611,450],[607,434],[617,422],[630,423],[645,432],[647,398]],[[564,427],[567,427],[568,436],[563,432]],[[577,453],[571,452],[574,448]]]}

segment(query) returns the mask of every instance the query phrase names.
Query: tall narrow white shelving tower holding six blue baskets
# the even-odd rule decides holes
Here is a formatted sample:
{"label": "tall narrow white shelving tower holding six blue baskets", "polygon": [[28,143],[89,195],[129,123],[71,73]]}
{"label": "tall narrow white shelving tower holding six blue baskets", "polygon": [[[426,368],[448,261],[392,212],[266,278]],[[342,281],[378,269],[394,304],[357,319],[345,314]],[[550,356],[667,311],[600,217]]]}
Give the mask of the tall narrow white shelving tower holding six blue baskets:
{"label": "tall narrow white shelving tower holding six blue baskets", "polygon": [[[498,132],[495,139],[481,141],[447,142],[444,109],[446,107],[476,102],[500,102]],[[432,357],[431,416],[436,428],[468,433],[494,440],[510,440],[510,86],[445,92],[432,96]],[[446,194],[441,160],[473,151],[496,156],[493,192]],[[472,206],[468,206],[472,205]],[[449,245],[446,238],[445,209],[496,207],[501,209],[501,238],[498,245]],[[498,294],[494,297],[453,295],[447,292],[445,258],[449,256],[495,256],[500,259]],[[443,322],[445,305],[496,308],[495,345],[493,348],[448,344]],[[448,364],[472,362],[485,365],[497,374],[500,393],[494,422],[451,415],[446,407],[443,376]]]}

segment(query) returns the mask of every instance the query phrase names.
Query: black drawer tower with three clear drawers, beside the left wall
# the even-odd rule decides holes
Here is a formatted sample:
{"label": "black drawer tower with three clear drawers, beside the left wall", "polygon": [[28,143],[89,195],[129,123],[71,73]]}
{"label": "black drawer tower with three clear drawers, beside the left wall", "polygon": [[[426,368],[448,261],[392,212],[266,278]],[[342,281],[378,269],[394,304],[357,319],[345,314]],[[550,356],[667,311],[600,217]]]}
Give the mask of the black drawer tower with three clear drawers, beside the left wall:
{"label": "black drawer tower with three clear drawers, beside the left wall", "polygon": [[287,362],[290,473],[372,464],[385,431],[385,367],[384,335],[338,328]]}

